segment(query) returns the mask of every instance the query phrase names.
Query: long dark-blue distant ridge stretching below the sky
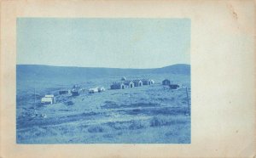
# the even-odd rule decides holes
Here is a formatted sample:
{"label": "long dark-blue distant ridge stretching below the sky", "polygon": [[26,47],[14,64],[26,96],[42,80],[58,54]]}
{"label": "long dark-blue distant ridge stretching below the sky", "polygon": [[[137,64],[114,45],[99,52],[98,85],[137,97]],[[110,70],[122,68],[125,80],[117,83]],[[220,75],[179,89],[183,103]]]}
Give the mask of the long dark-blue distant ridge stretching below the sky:
{"label": "long dark-blue distant ridge stretching below the sky", "polygon": [[52,65],[16,65],[17,79],[61,78],[65,76],[83,77],[84,79],[101,76],[126,76],[148,73],[190,74],[190,65],[177,64],[155,69],[123,69],[69,67]]}

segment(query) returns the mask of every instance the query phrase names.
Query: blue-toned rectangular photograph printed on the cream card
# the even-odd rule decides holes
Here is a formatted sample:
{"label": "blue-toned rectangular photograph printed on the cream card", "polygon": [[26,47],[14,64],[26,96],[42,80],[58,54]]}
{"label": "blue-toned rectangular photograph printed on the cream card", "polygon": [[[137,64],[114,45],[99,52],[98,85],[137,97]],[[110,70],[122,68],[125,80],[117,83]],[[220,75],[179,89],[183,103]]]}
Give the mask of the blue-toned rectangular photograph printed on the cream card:
{"label": "blue-toned rectangular photograph printed on the cream card", "polygon": [[189,19],[18,18],[17,144],[190,144]]}

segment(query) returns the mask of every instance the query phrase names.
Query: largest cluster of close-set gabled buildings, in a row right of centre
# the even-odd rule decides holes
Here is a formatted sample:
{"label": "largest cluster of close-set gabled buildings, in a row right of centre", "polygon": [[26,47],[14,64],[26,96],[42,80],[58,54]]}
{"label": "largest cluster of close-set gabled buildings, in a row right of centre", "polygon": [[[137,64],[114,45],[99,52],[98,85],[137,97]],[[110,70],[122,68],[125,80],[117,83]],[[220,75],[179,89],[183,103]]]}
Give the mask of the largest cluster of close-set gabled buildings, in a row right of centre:
{"label": "largest cluster of close-set gabled buildings, in a row right of centre", "polygon": [[125,89],[131,87],[142,87],[144,85],[154,84],[154,80],[151,79],[136,79],[136,80],[127,80],[125,77],[119,82],[113,82],[110,86],[110,89]]}

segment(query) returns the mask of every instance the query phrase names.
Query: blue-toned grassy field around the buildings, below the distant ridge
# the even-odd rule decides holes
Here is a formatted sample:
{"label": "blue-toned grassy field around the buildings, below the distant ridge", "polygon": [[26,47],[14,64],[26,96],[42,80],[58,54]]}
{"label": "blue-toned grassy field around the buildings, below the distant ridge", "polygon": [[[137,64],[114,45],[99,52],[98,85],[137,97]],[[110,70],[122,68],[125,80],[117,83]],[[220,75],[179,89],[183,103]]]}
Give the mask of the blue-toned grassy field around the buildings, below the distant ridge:
{"label": "blue-toned grassy field around the buildings, below the distant ridge", "polygon": [[[120,76],[87,81],[17,81],[18,144],[189,144],[190,115],[185,89],[161,85],[170,78],[189,90],[190,76],[146,74],[127,78],[154,79],[151,86],[108,89]],[[74,83],[102,93],[57,96],[56,104],[39,104],[44,93],[57,93]],[[36,93],[35,93],[36,92]]]}

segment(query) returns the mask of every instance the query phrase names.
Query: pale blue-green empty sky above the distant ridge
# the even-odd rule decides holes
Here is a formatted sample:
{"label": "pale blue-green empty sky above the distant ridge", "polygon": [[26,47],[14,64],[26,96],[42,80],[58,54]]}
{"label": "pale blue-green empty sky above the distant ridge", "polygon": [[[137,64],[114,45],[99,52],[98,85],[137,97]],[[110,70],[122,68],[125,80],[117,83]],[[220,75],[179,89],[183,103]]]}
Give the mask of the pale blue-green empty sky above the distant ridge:
{"label": "pale blue-green empty sky above the distant ridge", "polygon": [[142,69],[190,64],[190,20],[18,18],[17,64]]}

